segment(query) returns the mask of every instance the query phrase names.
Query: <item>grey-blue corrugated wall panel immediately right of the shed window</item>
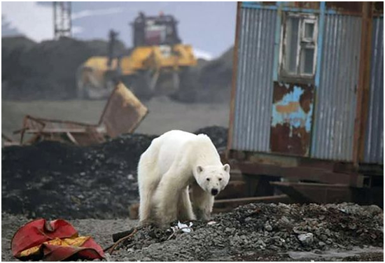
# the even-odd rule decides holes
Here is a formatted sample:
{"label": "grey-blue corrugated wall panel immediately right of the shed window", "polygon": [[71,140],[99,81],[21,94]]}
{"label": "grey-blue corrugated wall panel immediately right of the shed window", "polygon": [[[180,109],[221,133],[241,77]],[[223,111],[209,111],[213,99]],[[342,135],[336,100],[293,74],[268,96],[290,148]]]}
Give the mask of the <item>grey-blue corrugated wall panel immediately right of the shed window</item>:
{"label": "grey-blue corrugated wall panel immediately right of the shed window", "polygon": [[311,157],[352,160],[360,17],[325,15]]}

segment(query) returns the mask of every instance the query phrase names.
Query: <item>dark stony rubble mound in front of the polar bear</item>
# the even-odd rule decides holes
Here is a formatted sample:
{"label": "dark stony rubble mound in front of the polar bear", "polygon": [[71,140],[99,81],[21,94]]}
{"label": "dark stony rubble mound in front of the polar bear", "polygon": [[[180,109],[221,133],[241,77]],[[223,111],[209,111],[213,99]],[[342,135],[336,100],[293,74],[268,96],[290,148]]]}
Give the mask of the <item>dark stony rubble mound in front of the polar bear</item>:
{"label": "dark stony rubble mound in front of the polar bear", "polygon": [[[384,243],[384,213],[378,206],[356,204],[248,204],[213,218],[193,222],[194,232],[144,227],[117,253],[119,260],[257,260],[287,251],[350,250]],[[174,223],[174,225],[176,225]],[[282,256],[283,257],[283,256]]]}

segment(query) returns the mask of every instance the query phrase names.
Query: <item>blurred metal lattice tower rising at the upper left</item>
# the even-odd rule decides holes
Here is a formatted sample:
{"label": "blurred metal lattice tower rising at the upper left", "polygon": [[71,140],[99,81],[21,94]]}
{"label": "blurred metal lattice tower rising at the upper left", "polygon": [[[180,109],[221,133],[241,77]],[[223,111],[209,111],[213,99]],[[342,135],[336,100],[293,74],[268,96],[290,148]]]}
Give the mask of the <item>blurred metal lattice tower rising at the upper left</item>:
{"label": "blurred metal lattice tower rising at the upper left", "polygon": [[71,2],[53,3],[53,30],[55,39],[71,36]]}

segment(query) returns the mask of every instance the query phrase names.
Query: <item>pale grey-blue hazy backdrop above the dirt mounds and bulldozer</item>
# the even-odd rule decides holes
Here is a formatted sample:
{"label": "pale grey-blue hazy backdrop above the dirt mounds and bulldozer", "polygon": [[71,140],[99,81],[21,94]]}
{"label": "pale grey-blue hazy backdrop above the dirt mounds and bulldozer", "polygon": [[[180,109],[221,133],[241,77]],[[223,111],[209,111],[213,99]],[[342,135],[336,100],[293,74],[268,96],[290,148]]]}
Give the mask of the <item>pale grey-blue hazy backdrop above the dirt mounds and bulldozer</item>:
{"label": "pale grey-blue hazy backdrop above the dirt mounds and bulldozer", "polygon": [[[129,23],[139,11],[160,11],[179,20],[183,43],[217,57],[234,43],[236,2],[72,2],[73,36],[107,39],[109,29],[132,45]],[[34,41],[52,38],[52,2],[1,2],[1,35],[24,34]]]}

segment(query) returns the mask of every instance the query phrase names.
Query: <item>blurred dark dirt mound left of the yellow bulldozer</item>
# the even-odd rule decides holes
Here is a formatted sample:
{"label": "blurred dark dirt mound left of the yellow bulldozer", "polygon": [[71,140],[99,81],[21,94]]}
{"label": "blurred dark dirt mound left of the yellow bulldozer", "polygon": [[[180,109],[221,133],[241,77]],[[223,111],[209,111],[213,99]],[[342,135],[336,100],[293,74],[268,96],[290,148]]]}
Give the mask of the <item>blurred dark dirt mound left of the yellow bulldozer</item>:
{"label": "blurred dark dirt mound left of the yellow bulldozer", "polygon": [[[92,56],[106,55],[106,41],[60,38],[34,43],[28,38],[2,38],[3,99],[69,99],[76,94],[78,66]],[[118,53],[125,45],[118,42]],[[5,89],[4,89],[5,87]]]}

